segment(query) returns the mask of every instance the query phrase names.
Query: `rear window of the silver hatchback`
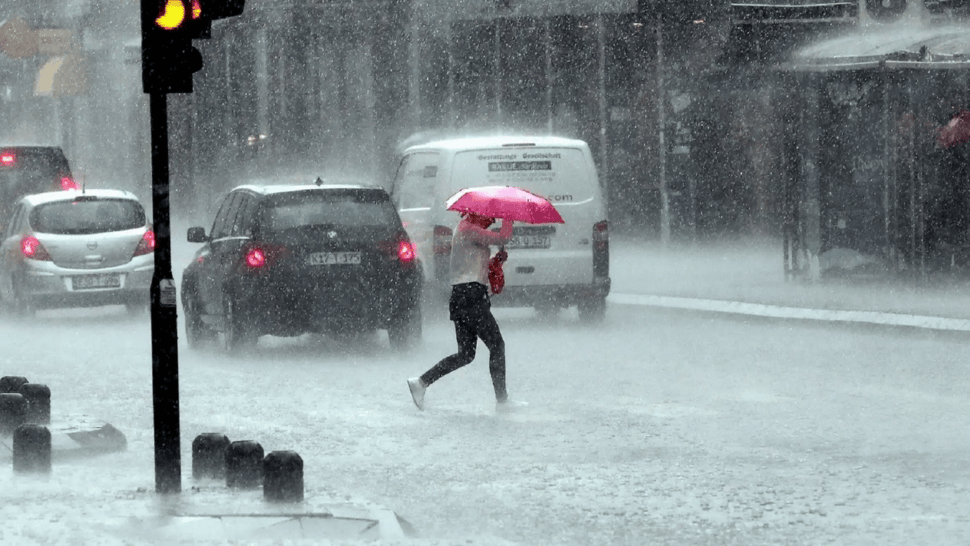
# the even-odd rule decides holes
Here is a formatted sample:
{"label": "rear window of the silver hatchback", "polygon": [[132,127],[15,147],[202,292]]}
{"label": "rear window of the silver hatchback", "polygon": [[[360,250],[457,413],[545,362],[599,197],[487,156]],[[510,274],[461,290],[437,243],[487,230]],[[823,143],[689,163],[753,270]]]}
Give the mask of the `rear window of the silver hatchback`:
{"label": "rear window of the silver hatchback", "polygon": [[38,205],[30,213],[34,231],[88,235],[144,226],[145,210],[131,199],[84,199]]}

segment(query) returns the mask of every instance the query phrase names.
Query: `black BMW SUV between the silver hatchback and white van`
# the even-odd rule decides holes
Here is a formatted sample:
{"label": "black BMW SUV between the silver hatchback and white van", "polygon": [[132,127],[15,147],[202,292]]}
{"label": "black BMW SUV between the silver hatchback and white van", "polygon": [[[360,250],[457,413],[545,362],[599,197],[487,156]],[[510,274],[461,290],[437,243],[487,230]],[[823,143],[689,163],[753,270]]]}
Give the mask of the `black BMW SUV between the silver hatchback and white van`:
{"label": "black BMW SUV between the silver hatchback and white van", "polygon": [[245,185],[223,201],[182,275],[190,347],[223,334],[227,350],[259,336],[387,329],[395,348],[421,337],[421,270],[380,187]]}

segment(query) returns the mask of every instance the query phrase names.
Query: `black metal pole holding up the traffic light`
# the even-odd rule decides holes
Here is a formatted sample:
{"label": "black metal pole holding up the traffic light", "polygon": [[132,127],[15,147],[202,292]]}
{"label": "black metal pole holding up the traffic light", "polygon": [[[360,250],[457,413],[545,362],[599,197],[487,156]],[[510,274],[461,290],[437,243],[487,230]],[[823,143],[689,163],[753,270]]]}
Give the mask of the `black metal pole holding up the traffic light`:
{"label": "black metal pole holding up the traffic light", "polygon": [[168,192],[168,105],[165,93],[149,94],[152,139],[152,211],[155,273],[152,276],[152,401],[155,415],[155,491],[182,491],[179,430],[178,323],[172,277]]}

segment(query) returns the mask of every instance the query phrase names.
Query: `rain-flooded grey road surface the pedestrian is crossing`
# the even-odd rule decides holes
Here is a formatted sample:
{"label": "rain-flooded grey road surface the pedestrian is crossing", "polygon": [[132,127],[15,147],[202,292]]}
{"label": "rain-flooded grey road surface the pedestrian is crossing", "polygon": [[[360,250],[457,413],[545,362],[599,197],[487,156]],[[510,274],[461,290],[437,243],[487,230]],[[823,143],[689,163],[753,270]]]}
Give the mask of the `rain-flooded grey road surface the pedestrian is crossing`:
{"label": "rain-flooded grey road surface the pedestrian is crossing", "polygon": [[[183,347],[183,487],[192,438],[218,431],[297,451],[308,497],[386,506],[419,543],[970,536],[962,336],[618,305],[595,328],[574,310],[496,315],[511,396],[529,403],[509,415],[495,415],[481,345],[473,364],[429,389],[427,411],[413,406],[405,378],[454,347],[440,319],[403,356],[383,333],[264,338],[242,357]],[[124,453],[55,470],[74,491],[58,502],[85,504],[85,521],[126,510],[127,492],[154,484],[147,317],[108,309],[0,322],[4,375],[46,383],[55,413],[97,415],[128,435]],[[2,515],[33,509],[51,507],[8,502]]]}

